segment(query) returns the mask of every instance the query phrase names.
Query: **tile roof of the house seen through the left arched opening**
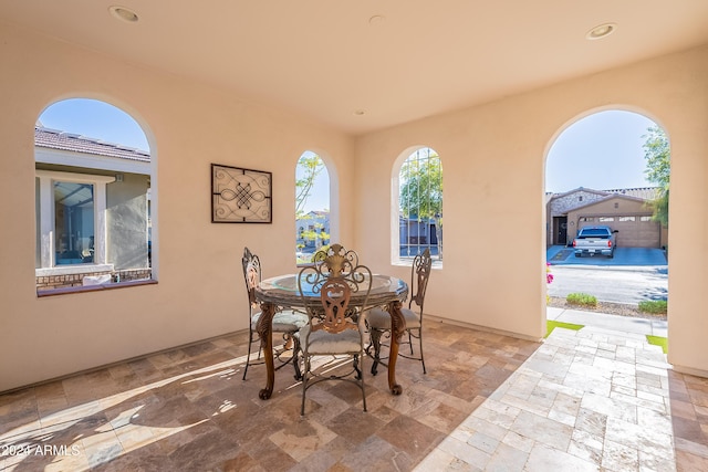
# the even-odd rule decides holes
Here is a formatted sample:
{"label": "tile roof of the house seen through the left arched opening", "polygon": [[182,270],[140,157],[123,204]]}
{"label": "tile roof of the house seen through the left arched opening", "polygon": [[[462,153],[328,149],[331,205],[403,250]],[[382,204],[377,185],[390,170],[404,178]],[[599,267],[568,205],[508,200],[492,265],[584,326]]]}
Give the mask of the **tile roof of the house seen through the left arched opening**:
{"label": "tile roof of the house seen through the left arched opening", "polygon": [[93,154],[96,156],[117,157],[142,162],[150,161],[150,154],[145,150],[42,126],[34,127],[34,146]]}

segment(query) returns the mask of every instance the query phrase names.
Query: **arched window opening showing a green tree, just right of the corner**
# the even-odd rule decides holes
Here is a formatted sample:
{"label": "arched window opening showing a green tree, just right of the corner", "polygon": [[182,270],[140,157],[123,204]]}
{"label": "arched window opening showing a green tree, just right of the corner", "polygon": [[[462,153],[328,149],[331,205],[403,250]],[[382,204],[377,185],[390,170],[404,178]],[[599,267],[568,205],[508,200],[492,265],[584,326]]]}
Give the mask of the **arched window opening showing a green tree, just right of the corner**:
{"label": "arched window opening showing a green tree, just right of the corner", "polygon": [[[398,171],[398,262],[412,261],[425,249],[442,261],[442,165],[438,154],[413,151]],[[394,258],[394,261],[396,258]]]}

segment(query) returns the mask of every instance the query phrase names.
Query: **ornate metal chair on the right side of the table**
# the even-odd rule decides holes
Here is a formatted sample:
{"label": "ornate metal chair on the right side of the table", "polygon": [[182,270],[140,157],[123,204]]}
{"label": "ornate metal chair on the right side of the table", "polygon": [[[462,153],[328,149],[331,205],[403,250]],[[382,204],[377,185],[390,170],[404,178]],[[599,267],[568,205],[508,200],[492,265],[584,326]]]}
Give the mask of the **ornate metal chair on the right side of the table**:
{"label": "ornate metal chair on the right side of the table", "polygon": [[[410,300],[408,301],[408,307],[402,308],[400,312],[406,319],[406,332],[408,333],[408,340],[400,344],[408,344],[410,346],[410,354],[403,354],[399,352],[400,357],[408,359],[420,360],[423,364],[423,374],[427,374],[425,369],[425,359],[423,357],[423,303],[425,301],[425,292],[428,287],[428,279],[430,277],[430,266],[433,260],[430,259],[430,251],[426,249],[423,254],[416,255],[413,260],[413,266],[410,268]],[[415,306],[414,306],[415,303]],[[415,310],[413,310],[415,308]],[[374,308],[368,313],[366,323],[371,333],[372,343],[367,348],[371,354],[371,348],[374,348],[374,364],[372,365],[372,375],[377,374],[378,364],[386,366],[387,364],[382,361],[381,346],[382,336],[386,335],[391,337],[391,316],[382,308]],[[413,349],[413,338],[418,339],[418,352],[416,356]]]}

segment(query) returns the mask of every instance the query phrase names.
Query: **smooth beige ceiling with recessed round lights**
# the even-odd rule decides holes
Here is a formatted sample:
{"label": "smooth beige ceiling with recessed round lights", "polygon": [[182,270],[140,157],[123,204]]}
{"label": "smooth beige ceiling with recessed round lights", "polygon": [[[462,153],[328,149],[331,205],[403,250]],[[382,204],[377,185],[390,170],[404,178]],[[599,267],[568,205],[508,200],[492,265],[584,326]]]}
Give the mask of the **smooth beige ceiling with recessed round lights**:
{"label": "smooth beige ceiling with recessed round lights", "polygon": [[0,22],[355,135],[708,43],[707,0],[117,1],[0,0]]}

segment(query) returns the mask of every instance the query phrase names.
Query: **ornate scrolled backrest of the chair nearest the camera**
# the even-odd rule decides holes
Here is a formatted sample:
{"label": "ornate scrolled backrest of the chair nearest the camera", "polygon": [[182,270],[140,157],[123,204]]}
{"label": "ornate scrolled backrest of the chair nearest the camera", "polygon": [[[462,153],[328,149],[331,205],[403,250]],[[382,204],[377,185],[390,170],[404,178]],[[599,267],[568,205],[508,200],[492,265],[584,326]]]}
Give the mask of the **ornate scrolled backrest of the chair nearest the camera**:
{"label": "ornate scrolled backrest of the chair nearest the camera", "polygon": [[[302,268],[298,275],[298,291],[308,308],[311,332],[324,329],[334,334],[358,329],[355,315],[367,306],[372,273],[358,264],[354,251],[346,251],[340,244],[322,253],[324,258]],[[352,297],[356,298],[354,306]]]}

